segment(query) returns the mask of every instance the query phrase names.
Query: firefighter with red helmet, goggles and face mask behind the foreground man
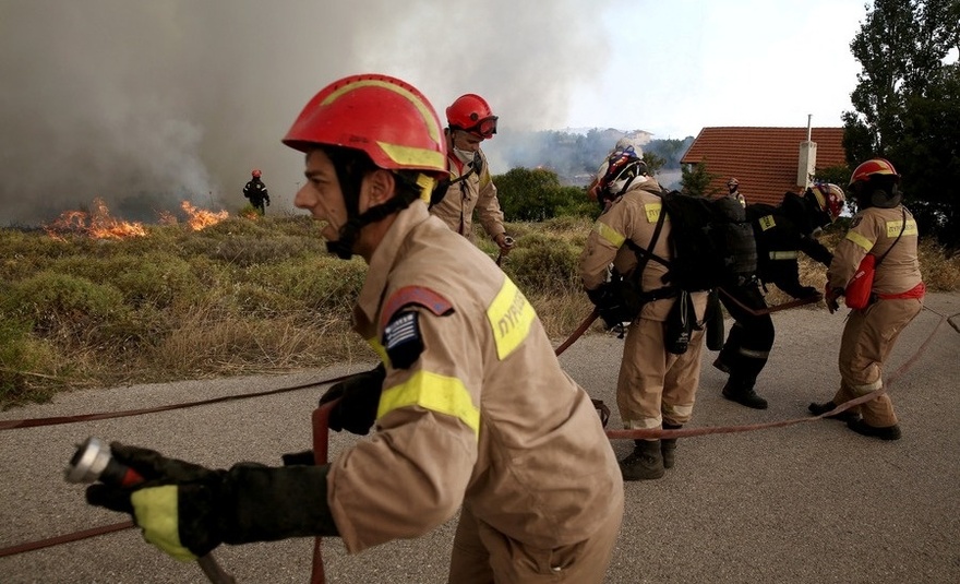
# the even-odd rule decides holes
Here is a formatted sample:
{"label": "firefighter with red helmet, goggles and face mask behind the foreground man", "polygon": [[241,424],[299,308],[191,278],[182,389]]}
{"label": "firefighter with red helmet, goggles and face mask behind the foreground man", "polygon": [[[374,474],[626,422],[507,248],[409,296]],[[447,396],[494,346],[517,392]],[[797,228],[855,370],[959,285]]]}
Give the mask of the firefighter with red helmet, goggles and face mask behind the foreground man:
{"label": "firefighter with red helmet, goggles and face mask behind the foreground man", "polygon": [[514,240],[503,227],[503,212],[496,196],[496,186],[490,178],[487,155],[480,143],[496,133],[497,117],[487,100],[468,93],[457,97],[446,108],[447,159],[449,182],[434,194],[430,213],[443,219],[454,231],[476,241],[473,212],[487,235],[504,255],[513,249]]}

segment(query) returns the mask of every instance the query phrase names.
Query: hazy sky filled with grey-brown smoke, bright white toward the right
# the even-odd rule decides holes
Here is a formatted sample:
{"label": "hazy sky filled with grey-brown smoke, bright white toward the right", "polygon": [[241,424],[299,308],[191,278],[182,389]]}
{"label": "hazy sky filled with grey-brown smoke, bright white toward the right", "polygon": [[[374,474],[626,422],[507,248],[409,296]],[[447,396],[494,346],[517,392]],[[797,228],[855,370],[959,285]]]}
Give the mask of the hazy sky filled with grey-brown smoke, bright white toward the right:
{"label": "hazy sky filled with grey-brown smoke, bright white toward the right", "polygon": [[840,126],[863,4],[0,0],[0,225],[95,196],[142,221],[182,200],[235,211],[254,167],[289,212],[303,163],[280,139],[360,72],[410,82],[442,119],[481,94],[516,129]]}

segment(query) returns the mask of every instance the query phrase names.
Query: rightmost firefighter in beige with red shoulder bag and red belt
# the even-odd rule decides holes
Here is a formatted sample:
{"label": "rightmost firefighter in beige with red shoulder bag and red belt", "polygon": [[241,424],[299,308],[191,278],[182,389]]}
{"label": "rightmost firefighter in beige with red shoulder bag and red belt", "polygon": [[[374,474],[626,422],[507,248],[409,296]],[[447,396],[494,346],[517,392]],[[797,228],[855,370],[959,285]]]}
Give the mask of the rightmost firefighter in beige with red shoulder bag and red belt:
{"label": "rightmost firefighter in beige with red shoulder bag and red belt", "polygon": [[[876,261],[871,302],[850,311],[840,341],[840,389],[833,398],[809,405],[820,415],[837,405],[884,388],[883,367],[900,332],[923,309],[925,286],[920,273],[913,215],[901,204],[900,175],[883,158],[853,170],[848,188],[856,201],[847,237],[833,250],[827,270],[826,300],[830,312],[856,274],[861,262]],[[901,431],[890,396],[875,398],[842,412],[839,419],[863,436],[898,440]]]}

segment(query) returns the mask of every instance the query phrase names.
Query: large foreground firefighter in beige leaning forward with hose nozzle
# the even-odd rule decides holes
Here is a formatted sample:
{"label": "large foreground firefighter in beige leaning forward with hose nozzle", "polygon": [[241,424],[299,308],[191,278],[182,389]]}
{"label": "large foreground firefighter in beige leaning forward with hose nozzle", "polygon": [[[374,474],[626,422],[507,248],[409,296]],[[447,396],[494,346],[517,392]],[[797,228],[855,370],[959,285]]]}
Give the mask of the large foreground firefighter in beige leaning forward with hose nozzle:
{"label": "large foreground firefighter in beige leaning forward with hose nozzle", "polygon": [[326,222],[332,252],[369,264],[355,327],[383,365],[345,382],[331,427],[375,433],[329,465],[228,470],[115,444],[147,481],[95,485],[88,501],[131,512],[181,559],[315,535],[356,553],[461,508],[451,582],[602,582],[623,514],[616,460],[520,290],[428,213],[447,172],[430,104],[394,78],[346,78],[284,143],[307,154],[297,206]]}

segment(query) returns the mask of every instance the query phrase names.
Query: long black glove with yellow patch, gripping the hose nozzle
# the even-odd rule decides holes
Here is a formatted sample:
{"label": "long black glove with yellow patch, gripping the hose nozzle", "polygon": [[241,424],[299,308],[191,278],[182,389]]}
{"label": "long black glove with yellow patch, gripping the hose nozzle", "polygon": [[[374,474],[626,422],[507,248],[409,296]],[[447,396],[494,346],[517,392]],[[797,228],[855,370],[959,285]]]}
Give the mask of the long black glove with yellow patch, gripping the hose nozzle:
{"label": "long black glove with yellow patch, gripping the hose nozzle", "polygon": [[326,502],[328,465],[213,470],[119,442],[113,460],[139,473],[133,487],[96,484],[86,501],[130,513],[148,543],[182,561],[220,544],[339,535]]}

